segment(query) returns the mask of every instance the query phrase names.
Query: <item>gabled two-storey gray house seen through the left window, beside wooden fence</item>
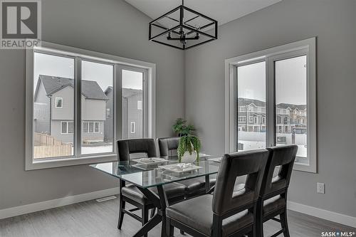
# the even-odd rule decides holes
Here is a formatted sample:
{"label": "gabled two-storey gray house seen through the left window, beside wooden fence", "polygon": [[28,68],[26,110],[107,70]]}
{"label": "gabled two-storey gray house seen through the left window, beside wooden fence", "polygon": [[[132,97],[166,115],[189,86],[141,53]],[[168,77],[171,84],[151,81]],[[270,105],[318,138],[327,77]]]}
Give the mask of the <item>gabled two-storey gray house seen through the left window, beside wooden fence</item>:
{"label": "gabled two-storey gray house seen through the left window, beside wooden fence", "polygon": [[[81,84],[83,143],[104,141],[105,108],[108,101],[97,82]],[[73,142],[74,80],[39,75],[34,94],[33,130],[64,143]]]}

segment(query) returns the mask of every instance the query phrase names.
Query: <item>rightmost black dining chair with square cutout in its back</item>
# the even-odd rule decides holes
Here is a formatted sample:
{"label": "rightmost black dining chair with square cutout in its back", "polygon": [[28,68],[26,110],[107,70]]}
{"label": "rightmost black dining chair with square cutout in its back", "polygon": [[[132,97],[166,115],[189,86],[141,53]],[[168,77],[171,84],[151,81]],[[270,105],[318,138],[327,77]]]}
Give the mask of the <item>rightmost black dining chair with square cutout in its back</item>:
{"label": "rightmost black dining chair with square cutout in its back", "polygon": [[[283,233],[285,237],[289,237],[287,191],[298,146],[283,145],[267,149],[271,152],[271,155],[266,165],[266,172],[257,202],[257,236],[263,237],[263,223],[272,219],[280,222],[282,227],[272,236]],[[276,177],[273,177],[276,167],[279,167],[279,172]],[[278,215],[280,216],[279,219],[276,218]]]}

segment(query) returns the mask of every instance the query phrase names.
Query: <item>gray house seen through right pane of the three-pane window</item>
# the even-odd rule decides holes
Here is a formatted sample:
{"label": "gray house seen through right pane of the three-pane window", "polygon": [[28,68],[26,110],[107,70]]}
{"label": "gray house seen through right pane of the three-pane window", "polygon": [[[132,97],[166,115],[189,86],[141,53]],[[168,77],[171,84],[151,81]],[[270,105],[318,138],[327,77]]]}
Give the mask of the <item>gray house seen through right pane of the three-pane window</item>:
{"label": "gray house seen through right pane of the three-pane window", "polygon": [[[112,141],[112,87],[105,90],[106,103],[105,142]],[[143,137],[142,90],[122,88],[122,139]]]}

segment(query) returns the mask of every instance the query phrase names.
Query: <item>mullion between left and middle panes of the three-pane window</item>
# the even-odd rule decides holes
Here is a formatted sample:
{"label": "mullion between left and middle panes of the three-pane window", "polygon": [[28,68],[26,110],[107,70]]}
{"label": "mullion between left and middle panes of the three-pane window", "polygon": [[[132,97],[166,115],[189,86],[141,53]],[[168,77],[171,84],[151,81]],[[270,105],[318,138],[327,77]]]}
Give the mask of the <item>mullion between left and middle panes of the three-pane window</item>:
{"label": "mullion between left and middle panes of the three-pane window", "polygon": [[82,60],[75,58],[74,74],[74,156],[81,156],[81,80],[82,80]]}

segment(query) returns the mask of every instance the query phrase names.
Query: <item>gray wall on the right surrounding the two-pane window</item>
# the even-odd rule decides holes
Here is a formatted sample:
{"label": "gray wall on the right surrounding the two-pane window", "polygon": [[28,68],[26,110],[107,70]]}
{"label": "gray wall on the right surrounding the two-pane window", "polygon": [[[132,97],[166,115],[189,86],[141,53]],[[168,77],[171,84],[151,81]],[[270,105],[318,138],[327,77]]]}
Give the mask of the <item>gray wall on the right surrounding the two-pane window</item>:
{"label": "gray wall on the right surrounding the two-pane window", "polygon": [[[318,36],[319,173],[293,172],[289,197],[356,216],[355,10],[354,0],[283,0],[221,26],[219,40],[187,51],[186,117],[197,125],[202,150],[224,152],[226,58]],[[326,194],[316,194],[318,181]]]}

